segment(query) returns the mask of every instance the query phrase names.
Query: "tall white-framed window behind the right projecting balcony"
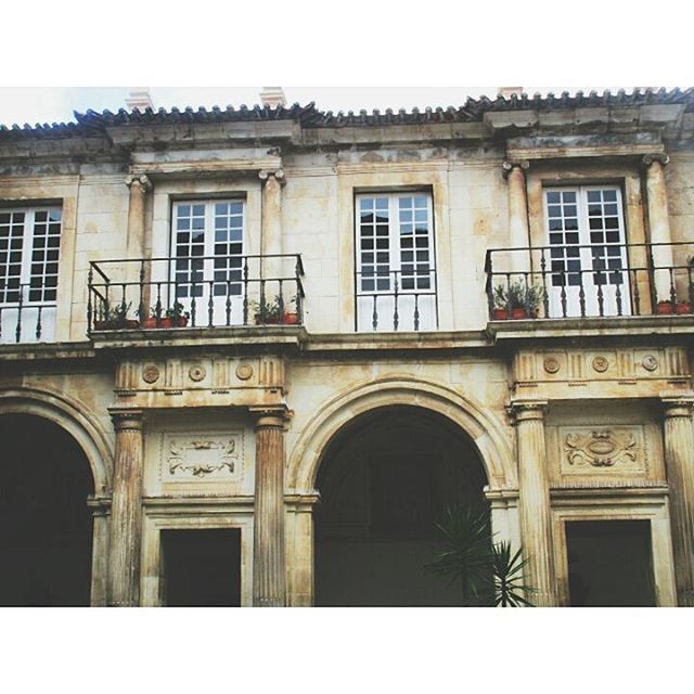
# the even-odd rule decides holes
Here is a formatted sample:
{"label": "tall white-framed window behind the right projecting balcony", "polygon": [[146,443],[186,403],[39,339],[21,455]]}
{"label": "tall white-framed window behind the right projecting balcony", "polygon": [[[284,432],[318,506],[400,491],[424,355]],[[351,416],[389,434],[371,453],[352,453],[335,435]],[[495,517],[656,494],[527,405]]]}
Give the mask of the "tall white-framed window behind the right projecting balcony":
{"label": "tall white-framed window behind the right projecting balcony", "polygon": [[630,313],[621,192],[616,185],[544,191],[552,316]]}

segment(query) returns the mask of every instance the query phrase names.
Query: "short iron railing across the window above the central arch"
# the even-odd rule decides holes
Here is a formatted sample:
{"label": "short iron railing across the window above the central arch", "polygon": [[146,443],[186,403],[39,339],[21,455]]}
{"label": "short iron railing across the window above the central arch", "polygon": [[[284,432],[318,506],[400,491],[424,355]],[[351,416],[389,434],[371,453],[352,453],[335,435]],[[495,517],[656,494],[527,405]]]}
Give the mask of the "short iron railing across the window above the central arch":
{"label": "short iron railing across the window above the central arch", "polygon": [[358,331],[436,330],[436,270],[355,272]]}

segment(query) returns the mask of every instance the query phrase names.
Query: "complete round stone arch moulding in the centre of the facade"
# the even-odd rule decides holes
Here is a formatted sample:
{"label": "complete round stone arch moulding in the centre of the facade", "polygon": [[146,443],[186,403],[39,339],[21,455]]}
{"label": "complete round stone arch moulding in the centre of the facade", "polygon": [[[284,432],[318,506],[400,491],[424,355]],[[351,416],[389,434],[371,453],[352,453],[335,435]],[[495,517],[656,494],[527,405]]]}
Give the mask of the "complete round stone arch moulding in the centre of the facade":
{"label": "complete round stone arch moulding in the centre of the facade", "polygon": [[312,492],[323,454],[335,434],[360,414],[398,404],[438,412],[460,426],[479,452],[490,489],[515,485],[510,437],[493,414],[444,384],[394,375],[350,387],[319,408],[290,455],[287,488],[297,493]]}

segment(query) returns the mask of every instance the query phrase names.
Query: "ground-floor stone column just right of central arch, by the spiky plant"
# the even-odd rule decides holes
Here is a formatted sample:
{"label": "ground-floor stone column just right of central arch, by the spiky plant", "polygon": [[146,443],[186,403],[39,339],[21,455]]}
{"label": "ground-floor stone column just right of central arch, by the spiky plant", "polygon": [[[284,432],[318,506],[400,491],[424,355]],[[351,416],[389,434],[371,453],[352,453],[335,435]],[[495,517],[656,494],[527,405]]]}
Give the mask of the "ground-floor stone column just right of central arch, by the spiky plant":
{"label": "ground-floor stone column just right of central arch, by the spiky plant", "polygon": [[529,596],[538,607],[556,605],[554,545],[550,487],[544,447],[547,402],[516,402],[512,406],[518,457],[518,506],[524,556],[528,557],[526,582],[538,592]]}

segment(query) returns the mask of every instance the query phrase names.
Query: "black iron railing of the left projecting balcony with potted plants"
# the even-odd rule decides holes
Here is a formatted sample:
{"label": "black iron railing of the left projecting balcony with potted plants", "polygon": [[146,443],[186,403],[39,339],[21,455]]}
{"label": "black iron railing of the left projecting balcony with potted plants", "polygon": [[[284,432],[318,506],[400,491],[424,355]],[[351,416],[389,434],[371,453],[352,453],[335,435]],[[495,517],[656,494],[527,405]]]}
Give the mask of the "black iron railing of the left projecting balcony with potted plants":
{"label": "black iron railing of the left projecting balcony with potted plants", "polygon": [[304,323],[301,256],[91,261],[88,331]]}

